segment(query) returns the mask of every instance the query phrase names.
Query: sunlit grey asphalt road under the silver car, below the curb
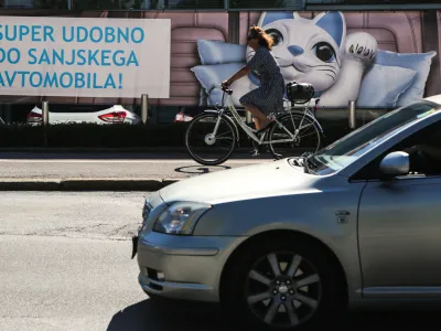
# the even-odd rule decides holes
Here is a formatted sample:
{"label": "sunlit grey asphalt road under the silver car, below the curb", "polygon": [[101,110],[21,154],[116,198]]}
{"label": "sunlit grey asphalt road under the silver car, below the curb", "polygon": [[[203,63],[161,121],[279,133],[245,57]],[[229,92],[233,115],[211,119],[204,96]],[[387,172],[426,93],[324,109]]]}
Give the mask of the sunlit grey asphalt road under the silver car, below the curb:
{"label": "sunlit grey asphalt road under the silver car, below the curb", "polygon": [[[148,193],[0,193],[0,330],[230,331],[205,305],[158,303],[130,236]],[[349,330],[440,330],[438,313],[348,314]]]}

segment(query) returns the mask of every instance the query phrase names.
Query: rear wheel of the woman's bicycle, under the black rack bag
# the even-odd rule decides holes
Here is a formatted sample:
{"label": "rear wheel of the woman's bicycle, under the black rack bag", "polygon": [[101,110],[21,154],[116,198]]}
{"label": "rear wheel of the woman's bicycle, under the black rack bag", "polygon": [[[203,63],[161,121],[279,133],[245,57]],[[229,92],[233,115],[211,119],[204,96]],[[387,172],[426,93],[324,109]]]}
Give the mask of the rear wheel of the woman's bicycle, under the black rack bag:
{"label": "rear wheel of the woman's bicycle, under the black rack bag", "polygon": [[282,115],[278,121],[281,125],[275,124],[268,135],[270,150],[276,159],[295,157],[304,152],[314,153],[319,150],[321,134],[311,117],[292,113]]}

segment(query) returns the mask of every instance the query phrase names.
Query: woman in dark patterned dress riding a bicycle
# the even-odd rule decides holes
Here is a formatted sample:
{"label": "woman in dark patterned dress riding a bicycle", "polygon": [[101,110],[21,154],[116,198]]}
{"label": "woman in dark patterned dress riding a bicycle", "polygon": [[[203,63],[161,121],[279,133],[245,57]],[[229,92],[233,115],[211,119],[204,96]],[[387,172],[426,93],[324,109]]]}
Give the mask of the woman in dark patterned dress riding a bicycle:
{"label": "woman in dark patterned dress riding a bicycle", "polygon": [[272,38],[259,26],[251,26],[247,35],[247,44],[255,50],[254,57],[229,79],[222,83],[228,87],[234,81],[257,71],[260,75],[260,86],[245,94],[240,104],[255,116],[256,129],[263,130],[270,120],[270,113],[283,110],[284,81],[279,64],[271,53]]}

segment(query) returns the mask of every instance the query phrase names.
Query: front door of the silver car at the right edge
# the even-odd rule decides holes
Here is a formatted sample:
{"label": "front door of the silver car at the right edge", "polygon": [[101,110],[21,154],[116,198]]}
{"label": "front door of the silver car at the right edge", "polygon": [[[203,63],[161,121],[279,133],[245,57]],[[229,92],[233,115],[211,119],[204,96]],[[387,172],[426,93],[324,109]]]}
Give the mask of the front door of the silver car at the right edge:
{"label": "front door of the silver car at the right edge", "polygon": [[359,201],[358,245],[364,297],[441,297],[441,169],[370,179]]}

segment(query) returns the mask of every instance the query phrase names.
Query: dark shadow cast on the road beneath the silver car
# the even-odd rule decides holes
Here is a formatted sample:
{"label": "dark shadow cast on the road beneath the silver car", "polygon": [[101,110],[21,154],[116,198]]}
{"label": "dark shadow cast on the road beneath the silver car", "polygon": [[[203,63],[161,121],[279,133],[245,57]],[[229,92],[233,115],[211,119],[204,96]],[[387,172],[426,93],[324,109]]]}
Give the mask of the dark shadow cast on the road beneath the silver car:
{"label": "dark shadow cast on the road beneath the silver car", "polygon": [[[352,312],[336,330],[441,330],[437,312]],[[232,331],[217,306],[144,300],[117,312],[107,331]],[[334,329],[329,329],[334,331]]]}

